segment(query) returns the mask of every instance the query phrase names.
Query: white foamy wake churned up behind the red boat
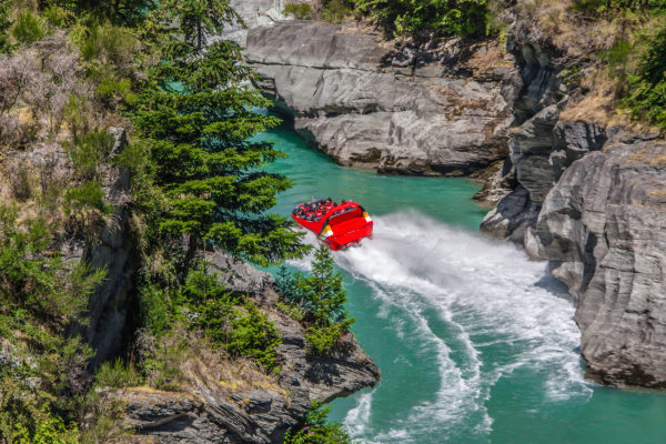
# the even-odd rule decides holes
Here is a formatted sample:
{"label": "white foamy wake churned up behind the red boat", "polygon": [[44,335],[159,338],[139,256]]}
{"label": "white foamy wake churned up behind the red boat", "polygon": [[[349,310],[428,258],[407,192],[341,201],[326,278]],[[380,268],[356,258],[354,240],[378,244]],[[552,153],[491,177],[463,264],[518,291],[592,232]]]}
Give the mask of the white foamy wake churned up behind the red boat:
{"label": "white foamy wake churned up behind the red boat", "polygon": [[[487,434],[493,421],[484,404],[491,389],[521,367],[545,375],[544,394],[553,402],[589,396],[575,352],[579,332],[574,309],[566,299],[535,285],[545,266],[517,249],[412,212],[375,218],[374,239],[335,258],[370,284],[384,315],[400,310],[416,325],[410,334],[434,351],[441,377],[435,401],[413,407],[404,422],[392,424],[400,427],[390,431],[370,432],[373,398],[362,395],[345,420],[352,436],[362,442],[417,442],[424,428],[446,433],[470,418],[478,433]],[[432,310],[451,335],[433,332],[426,315]],[[394,325],[402,327],[400,322]],[[450,344],[455,344],[456,359]],[[485,363],[491,370],[482,373],[483,349],[498,345],[517,352],[511,362]],[[361,410],[366,413],[357,413]]]}

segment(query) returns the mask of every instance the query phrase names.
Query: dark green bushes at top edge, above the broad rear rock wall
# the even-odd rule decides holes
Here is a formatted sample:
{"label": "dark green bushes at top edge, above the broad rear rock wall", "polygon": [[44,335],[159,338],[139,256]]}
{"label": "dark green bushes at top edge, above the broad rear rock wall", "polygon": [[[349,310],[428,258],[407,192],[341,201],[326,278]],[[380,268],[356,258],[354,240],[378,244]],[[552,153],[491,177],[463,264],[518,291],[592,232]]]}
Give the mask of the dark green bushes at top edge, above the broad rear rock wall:
{"label": "dark green bushes at top edge, above the broad rear rock wall", "polygon": [[481,37],[487,30],[487,0],[359,0],[356,3],[389,34]]}

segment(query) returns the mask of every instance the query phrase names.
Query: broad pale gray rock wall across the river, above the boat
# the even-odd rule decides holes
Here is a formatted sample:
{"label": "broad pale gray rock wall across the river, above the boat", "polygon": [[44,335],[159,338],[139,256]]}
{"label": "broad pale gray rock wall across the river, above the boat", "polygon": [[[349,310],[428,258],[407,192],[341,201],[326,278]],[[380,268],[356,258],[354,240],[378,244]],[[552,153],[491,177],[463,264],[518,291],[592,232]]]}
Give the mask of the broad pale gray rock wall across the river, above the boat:
{"label": "broad pale gray rock wall across the river, above the boat", "polygon": [[356,29],[290,21],[250,30],[245,54],[264,78],[259,85],[336,162],[463,175],[506,158],[513,118],[503,82],[514,72],[506,60],[483,75],[443,78],[446,54],[491,51],[461,54],[450,43],[392,53]]}

